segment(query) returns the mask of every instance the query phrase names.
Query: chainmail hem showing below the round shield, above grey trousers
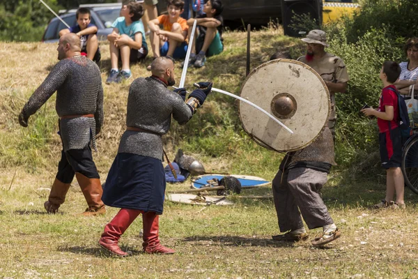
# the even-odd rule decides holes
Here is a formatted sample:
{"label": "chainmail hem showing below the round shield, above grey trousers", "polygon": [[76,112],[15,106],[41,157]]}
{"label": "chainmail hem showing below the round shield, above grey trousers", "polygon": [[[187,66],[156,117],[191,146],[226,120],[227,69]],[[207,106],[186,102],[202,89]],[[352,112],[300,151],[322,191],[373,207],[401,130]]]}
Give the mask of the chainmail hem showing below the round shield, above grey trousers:
{"label": "chainmail hem showing below the round shield, above grey trousers", "polygon": [[295,151],[289,163],[321,162],[336,165],[334,161],[334,141],[330,128],[325,127],[322,133],[309,146]]}

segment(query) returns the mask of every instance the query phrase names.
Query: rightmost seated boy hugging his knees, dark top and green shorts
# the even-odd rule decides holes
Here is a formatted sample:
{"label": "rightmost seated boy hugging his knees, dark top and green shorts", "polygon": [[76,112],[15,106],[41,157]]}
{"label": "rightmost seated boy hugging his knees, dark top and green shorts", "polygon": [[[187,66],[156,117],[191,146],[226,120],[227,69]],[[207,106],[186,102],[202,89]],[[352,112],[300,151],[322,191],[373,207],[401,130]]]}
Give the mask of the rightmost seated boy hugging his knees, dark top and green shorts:
{"label": "rightmost seated boy hugging his knees, dark top and green shorts", "polygon": [[[187,20],[189,25],[188,38],[192,33],[194,20],[197,21],[197,33],[192,42],[192,52],[189,57],[189,66],[194,65],[201,68],[206,61],[206,56],[212,56],[221,53],[224,50],[222,44],[222,27],[224,20],[221,13],[223,10],[220,0],[208,0],[203,6],[203,14]],[[197,52],[197,55],[196,55]]]}

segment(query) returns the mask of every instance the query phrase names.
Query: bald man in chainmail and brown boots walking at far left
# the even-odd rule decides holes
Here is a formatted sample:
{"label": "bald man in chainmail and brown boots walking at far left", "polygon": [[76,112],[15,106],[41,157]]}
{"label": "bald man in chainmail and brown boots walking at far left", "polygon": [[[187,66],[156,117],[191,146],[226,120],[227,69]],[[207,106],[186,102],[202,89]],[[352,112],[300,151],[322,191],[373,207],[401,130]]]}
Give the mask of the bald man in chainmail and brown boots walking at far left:
{"label": "bald man in chainmail and brown boots walking at far left", "polygon": [[103,123],[100,70],[93,61],[80,55],[80,40],[75,33],[62,36],[57,50],[59,63],[24,105],[19,123],[27,127],[29,116],[57,92],[55,107],[63,150],[45,209],[48,213],[58,211],[76,176],[88,204],[83,215],[104,214],[100,176],[91,154],[95,135]]}

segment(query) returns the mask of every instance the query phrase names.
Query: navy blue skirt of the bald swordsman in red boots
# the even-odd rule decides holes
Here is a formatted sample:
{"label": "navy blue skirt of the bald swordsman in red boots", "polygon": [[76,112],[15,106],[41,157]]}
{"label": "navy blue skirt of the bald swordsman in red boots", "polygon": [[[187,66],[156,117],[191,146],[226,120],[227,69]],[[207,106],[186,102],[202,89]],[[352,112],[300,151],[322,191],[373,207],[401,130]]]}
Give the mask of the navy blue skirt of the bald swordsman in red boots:
{"label": "navy blue skirt of the bald swordsman in red boots", "polygon": [[166,188],[161,160],[118,153],[103,188],[107,206],[162,214]]}

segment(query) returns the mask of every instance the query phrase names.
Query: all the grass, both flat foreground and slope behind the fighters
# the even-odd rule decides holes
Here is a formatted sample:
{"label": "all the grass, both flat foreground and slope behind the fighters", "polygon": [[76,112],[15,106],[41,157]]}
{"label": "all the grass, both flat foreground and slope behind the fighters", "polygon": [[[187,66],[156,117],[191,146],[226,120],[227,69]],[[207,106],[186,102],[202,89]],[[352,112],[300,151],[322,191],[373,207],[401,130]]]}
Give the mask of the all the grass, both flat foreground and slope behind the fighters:
{"label": "all the grass, both flat foreground and slope behind the fighters", "polygon": [[[186,84],[212,80],[217,88],[239,93],[246,33],[226,32],[224,38],[224,52],[208,59],[206,67],[190,69]],[[300,44],[277,29],[254,32],[251,43],[251,68],[277,50]],[[54,97],[31,116],[29,128],[17,123],[27,98],[56,63],[55,49],[42,43],[0,45],[0,278],[418,278],[418,196],[405,190],[405,210],[369,209],[384,197],[384,172],[373,177],[346,176],[340,170],[330,174],[323,198],[343,235],[326,248],[313,248],[309,241],[272,241],[279,233],[272,200],[231,197],[235,204],[228,207],[165,203],[160,239],[175,255],[141,253],[141,218],[121,239],[133,257],[103,254],[97,242],[117,209],[108,208],[97,218],[77,216],[86,207],[77,181],[59,214],[47,215],[43,209],[61,150]],[[105,80],[108,45],[101,44],[101,50]],[[176,69],[179,80],[180,66]],[[132,73],[149,75],[141,64]],[[128,88],[129,83],[104,84],[104,127],[99,152],[93,154],[102,181],[125,126]],[[181,147],[208,172],[274,177],[281,155],[249,140],[234,100],[215,93],[196,116],[185,127],[174,125],[164,137],[171,158]],[[189,181],[167,186],[187,188]],[[270,186],[243,193],[251,194],[270,195]],[[319,233],[309,232],[310,239]]]}

